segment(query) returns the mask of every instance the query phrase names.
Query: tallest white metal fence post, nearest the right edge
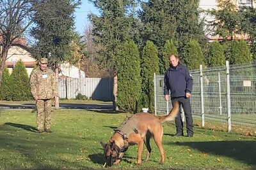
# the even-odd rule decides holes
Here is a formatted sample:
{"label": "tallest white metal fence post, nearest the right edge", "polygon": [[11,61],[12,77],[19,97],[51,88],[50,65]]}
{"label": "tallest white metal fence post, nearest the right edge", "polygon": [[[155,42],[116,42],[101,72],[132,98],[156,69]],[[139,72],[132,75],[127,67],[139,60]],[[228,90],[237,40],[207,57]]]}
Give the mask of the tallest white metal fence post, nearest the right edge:
{"label": "tallest white metal fence post, nearest the right edge", "polygon": [[231,101],[230,101],[230,81],[229,81],[229,64],[226,61],[227,69],[227,105],[228,105],[228,132],[231,131]]}

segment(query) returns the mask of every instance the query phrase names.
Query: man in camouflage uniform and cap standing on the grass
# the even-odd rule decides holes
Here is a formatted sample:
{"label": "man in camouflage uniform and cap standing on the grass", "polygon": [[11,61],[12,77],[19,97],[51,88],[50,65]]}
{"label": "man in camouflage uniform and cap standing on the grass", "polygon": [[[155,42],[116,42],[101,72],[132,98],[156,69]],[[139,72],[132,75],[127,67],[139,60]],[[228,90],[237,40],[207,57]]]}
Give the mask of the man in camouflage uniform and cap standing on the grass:
{"label": "man in camouflage uniform and cap standing on the grass", "polygon": [[58,83],[55,74],[47,67],[47,59],[42,58],[39,67],[30,76],[31,93],[36,101],[36,123],[38,133],[51,133],[52,99],[58,96]]}

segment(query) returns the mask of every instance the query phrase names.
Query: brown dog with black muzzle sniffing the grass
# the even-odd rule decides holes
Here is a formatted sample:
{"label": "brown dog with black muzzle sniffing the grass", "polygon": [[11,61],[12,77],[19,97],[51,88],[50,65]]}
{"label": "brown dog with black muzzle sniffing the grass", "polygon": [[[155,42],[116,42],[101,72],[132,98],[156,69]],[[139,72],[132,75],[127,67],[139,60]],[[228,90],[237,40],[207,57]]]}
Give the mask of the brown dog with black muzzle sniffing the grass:
{"label": "brown dog with black muzzle sniffing the grass", "polygon": [[[133,131],[126,136],[124,132],[115,131],[108,144],[100,142],[104,148],[104,156],[107,159],[106,165],[112,166],[113,164],[118,164],[128,146],[138,145],[138,162],[141,164],[141,154],[143,151],[143,142],[147,146],[147,161],[150,157],[150,138],[153,137],[154,141],[161,152],[161,164],[164,163],[164,148],[162,145],[163,137],[163,126],[161,122],[174,120],[179,113],[179,104],[175,103],[170,113],[164,117],[156,117],[151,113],[136,113],[129,118],[132,122],[128,125],[126,129],[132,129]],[[123,122],[124,123],[124,122]],[[127,123],[128,124],[128,123]],[[127,125],[125,122],[125,125]],[[124,127],[125,127],[124,125]]]}

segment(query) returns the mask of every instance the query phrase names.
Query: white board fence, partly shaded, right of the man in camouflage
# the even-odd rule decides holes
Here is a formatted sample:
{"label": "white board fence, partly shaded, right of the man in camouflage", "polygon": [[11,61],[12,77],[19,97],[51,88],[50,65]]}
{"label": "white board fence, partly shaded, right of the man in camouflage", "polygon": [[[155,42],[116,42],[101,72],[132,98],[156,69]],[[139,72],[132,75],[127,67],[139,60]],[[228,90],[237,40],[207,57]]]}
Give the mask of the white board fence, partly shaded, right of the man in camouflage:
{"label": "white board fence, partly shaded, right of the man in camouflage", "polygon": [[99,101],[112,101],[112,78],[61,78],[58,80],[60,98],[75,99],[77,94]]}

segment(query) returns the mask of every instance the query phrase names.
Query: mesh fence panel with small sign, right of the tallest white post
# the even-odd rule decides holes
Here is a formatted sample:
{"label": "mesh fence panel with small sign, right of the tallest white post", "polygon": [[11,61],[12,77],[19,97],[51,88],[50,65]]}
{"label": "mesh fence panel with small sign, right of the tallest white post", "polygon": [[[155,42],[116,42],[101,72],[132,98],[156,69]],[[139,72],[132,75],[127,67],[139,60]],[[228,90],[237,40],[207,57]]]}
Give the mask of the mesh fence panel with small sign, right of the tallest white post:
{"label": "mesh fence panel with small sign, right of the tallest white post", "polygon": [[256,124],[256,64],[230,66],[232,122]]}

